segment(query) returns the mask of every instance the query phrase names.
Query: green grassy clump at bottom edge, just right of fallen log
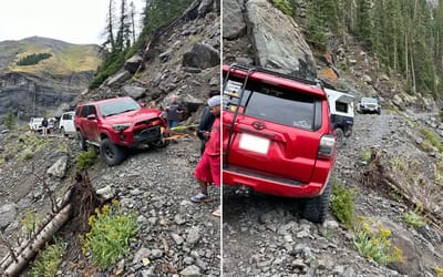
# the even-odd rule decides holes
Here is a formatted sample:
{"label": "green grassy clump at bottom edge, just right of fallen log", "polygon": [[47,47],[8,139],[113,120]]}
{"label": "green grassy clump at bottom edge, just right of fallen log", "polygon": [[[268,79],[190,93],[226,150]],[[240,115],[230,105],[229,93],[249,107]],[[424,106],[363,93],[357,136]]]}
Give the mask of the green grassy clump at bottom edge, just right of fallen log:
{"label": "green grassy clump at bottom edge, just right of fallen log", "polygon": [[47,244],[45,248],[39,252],[30,275],[32,277],[55,276],[65,250],[66,246],[58,239],[52,245]]}

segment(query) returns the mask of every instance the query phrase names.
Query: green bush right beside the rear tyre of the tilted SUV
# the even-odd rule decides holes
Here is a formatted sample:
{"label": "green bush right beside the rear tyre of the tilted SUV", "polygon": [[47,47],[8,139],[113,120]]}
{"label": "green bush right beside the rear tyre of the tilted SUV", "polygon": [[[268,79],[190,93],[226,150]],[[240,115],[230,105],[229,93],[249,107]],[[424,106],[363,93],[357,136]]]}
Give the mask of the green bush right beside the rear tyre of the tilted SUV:
{"label": "green bush right beside the rear tyre of the tilted SUV", "polygon": [[332,179],[331,209],[337,219],[348,228],[352,227],[353,223],[353,189],[338,183],[336,178]]}

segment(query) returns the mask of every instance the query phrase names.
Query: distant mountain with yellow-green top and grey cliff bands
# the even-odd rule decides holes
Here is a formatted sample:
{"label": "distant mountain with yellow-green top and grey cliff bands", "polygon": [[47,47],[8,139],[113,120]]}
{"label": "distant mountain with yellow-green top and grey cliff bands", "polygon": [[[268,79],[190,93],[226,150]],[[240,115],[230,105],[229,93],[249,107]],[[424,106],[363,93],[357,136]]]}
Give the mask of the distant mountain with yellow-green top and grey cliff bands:
{"label": "distant mountain with yellow-green top and grey cliff bands", "polygon": [[[79,51],[82,55],[78,55]],[[38,37],[0,42],[0,117],[12,109],[22,121],[43,113],[61,114],[66,103],[87,88],[100,62],[97,45]],[[52,57],[37,65],[16,64],[18,59],[32,53]]]}

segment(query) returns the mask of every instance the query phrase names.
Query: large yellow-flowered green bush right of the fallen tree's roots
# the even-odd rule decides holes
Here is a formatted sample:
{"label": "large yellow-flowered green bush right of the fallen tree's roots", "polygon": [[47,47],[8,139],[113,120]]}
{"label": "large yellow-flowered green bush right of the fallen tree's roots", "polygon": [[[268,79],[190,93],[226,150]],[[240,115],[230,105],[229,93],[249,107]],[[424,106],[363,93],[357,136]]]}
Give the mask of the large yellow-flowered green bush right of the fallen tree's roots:
{"label": "large yellow-flowered green bush right of the fallen tree's roots", "polygon": [[130,240],[140,227],[135,215],[125,215],[117,201],[96,208],[95,214],[89,219],[91,232],[80,236],[80,242],[83,254],[91,254],[92,263],[106,269],[130,252]]}

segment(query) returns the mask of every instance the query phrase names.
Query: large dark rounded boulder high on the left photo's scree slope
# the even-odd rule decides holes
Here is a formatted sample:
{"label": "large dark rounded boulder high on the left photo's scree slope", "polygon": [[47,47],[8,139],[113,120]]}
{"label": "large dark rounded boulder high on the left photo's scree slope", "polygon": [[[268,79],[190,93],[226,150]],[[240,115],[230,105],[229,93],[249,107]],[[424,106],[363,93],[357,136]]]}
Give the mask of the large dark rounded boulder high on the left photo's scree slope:
{"label": "large dark rounded boulder high on the left photo's scree slope", "polygon": [[207,69],[219,64],[219,52],[205,43],[195,43],[194,47],[183,55],[184,66]]}

